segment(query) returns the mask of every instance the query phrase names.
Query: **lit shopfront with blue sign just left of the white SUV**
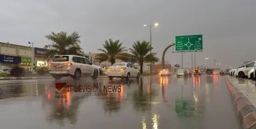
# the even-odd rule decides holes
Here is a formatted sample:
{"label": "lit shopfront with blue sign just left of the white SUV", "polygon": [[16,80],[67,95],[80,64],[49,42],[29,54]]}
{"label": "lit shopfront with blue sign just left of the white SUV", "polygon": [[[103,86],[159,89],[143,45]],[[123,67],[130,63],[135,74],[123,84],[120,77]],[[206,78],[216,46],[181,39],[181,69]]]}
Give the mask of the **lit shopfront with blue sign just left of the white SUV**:
{"label": "lit shopfront with blue sign just left of the white SUV", "polygon": [[47,56],[45,56],[48,49],[34,48],[34,62],[37,62],[37,66],[48,65]]}

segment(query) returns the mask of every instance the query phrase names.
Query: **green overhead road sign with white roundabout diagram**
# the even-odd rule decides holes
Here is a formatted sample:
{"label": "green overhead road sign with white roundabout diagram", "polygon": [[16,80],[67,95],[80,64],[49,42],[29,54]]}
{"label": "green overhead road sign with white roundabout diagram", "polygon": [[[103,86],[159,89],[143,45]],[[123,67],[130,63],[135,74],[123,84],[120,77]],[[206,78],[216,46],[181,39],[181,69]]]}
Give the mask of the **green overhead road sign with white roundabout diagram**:
{"label": "green overhead road sign with white roundabout diagram", "polygon": [[175,37],[176,51],[203,51],[203,35],[183,35]]}

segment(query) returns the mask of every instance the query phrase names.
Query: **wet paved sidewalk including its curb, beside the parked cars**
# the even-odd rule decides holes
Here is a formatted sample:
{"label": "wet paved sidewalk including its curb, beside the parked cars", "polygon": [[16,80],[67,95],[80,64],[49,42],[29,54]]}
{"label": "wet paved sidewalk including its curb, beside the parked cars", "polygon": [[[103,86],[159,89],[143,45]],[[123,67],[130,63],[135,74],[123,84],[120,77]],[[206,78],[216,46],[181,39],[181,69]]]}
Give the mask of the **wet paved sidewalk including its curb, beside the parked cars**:
{"label": "wet paved sidewalk including its curb, beside the parked cars", "polygon": [[244,129],[256,128],[256,82],[225,75],[231,101]]}

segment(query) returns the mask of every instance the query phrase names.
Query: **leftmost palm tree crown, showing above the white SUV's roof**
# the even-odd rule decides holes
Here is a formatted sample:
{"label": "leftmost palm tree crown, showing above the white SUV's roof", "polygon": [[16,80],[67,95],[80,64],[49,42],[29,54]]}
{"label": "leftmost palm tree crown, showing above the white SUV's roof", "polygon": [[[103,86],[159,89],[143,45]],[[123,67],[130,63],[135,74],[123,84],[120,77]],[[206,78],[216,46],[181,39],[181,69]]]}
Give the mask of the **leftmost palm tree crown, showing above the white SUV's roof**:
{"label": "leftmost palm tree crown, showing above the white SUV's roof", "polygon": [[84,55],[82,48],[80,47],[80,35],[77,32],[73,32],[68,35],[67,32],[52,32],[45,36],[48,40],[52,41],[50,45],[46,45],[44,48],[50,49],[46,53],[46,56],[52,57],[53,55]]}

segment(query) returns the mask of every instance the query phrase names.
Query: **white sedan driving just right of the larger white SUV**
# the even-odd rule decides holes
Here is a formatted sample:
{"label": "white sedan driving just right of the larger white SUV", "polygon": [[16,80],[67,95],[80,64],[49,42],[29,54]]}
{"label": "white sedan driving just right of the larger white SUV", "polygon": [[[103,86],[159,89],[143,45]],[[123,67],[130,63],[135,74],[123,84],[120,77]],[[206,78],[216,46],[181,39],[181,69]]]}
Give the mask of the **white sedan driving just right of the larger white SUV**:
{"label": "white sedan driving just right of the larger white SUV", "polygon": [[140,71],[133,66],[132,63],[121,62],[114,63],[112,66],[108,67],[107,75],[109,80],[113,80],[114,77],[126,78],[127,80],[130,77],[140,78]]}

